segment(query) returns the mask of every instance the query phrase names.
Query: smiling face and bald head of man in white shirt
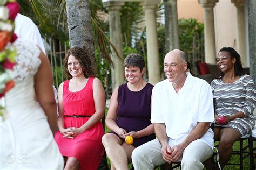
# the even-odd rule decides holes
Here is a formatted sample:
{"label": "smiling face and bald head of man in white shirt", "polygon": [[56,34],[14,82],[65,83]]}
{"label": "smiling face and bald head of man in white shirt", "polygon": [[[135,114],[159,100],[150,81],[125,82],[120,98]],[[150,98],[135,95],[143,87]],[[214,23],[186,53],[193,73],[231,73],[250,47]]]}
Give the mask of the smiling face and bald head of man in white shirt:
{"label": "smiling face and bald head of man in white shirt", "polygon": [[164,73],[167,80],[172,83],[179,83],[186,76],[187,62],[180,60],[178,51],[171,51],[164,59]]}

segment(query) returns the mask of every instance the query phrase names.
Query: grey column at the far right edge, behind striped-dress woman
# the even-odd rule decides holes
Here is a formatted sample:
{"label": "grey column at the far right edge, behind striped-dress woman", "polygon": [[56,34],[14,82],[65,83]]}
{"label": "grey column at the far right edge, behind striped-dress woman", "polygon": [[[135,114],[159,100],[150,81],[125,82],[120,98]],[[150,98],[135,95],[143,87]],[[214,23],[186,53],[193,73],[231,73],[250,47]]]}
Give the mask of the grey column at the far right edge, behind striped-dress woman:
{"label": "grey column at the far right edge, behind striped-dress woman", "polygon": [[[256,1],[248,0],[250,75],[256,82]],[[255,85],[256,86],[256,85]]]}

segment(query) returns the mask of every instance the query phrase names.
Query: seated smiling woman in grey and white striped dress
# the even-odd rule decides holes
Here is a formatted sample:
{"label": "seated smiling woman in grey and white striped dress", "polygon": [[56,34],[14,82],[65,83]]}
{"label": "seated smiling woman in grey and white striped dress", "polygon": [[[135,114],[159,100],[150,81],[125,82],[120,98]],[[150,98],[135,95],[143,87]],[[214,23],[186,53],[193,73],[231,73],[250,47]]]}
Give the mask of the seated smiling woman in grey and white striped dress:
{"label": "seated smiling woman in grey and white striped dress", "polygon": [[[217,57],[218,79],[211,83],[216,98],[214,140],[219,140],[221,169],[230,160],[234,142],[254,128],[256,91],[251,76],[244,74],[240,55],[231,47],[221,48]],[[218,117],[224,116],[221,122]]]}

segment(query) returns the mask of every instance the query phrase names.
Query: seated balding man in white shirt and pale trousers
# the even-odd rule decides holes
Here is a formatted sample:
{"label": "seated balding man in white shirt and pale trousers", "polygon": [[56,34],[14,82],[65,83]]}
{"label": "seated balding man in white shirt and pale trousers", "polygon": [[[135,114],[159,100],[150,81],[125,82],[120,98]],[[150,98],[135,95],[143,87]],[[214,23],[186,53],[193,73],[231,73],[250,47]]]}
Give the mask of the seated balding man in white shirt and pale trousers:
{"label": "seated balding man in white shirt and pale trousers", "polygon": [[213,153],[214,121],[211,86],[186,73],[187,57],[174,49],[166,54],[167,80],[152,91],[151,122],[157,139],[132,152],[135,169],[153,169],[168,162],[181,161],[181,169],[203,169]]}

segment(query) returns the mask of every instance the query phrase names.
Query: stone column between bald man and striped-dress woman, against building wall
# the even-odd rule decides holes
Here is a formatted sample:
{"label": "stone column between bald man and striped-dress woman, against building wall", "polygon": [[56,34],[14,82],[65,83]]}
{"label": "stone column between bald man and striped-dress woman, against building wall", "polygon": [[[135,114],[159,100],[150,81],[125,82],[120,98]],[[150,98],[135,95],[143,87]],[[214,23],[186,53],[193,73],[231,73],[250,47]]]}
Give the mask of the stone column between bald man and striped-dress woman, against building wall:
{"label": "stone column between bald man and striped-dress woman, against building wall", "polygon": [[204,8],[205,62],[216,64],[213,8],[219,0],[198,0]]}

